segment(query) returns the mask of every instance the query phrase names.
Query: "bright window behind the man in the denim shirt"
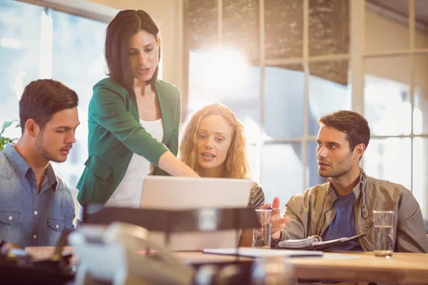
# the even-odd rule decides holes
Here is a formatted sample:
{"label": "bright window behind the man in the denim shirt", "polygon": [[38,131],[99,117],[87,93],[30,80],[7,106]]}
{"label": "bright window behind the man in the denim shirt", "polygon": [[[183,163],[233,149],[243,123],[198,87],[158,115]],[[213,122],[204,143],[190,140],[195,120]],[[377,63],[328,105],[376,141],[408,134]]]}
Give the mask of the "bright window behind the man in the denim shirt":
{"label": "bright window behind the man in the denim shirt", "polygon": [[[106,27],[101,21],[20,1],[0,0],[0,123],[19,120],[19,98],[31,81],[54,78],[75,90],[81,121],[76,130],[77,141],[66,162],[53,162],[54,169],[71,189],[76,187],[88,157],[87,112],[92,87],[106,76]],[[16,134],[19,135],[20,132]]]}

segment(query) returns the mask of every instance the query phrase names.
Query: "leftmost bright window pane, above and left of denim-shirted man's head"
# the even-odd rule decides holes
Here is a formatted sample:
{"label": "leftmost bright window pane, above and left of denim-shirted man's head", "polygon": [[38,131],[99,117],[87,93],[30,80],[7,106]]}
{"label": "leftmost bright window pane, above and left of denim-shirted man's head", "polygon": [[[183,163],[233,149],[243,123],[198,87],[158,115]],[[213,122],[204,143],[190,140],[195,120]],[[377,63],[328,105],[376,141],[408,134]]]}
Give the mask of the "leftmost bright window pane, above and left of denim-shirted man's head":
{"label": "leftmost bright window pane, above and left of denim-shirted man's head", "polygon": [[0,1],[0,125],[19,120],[24,87],[39,79],[42,11],[40,6]]}

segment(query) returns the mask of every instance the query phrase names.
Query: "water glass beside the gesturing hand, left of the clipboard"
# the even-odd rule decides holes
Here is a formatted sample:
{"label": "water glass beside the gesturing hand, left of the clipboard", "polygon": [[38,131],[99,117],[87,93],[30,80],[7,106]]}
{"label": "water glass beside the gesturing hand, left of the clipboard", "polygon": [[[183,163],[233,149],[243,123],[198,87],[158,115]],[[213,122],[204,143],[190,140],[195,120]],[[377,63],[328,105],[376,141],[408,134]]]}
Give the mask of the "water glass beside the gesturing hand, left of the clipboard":
{"label": "water glass beside the gesturing hand, left of the clipboard", "polygon": [[253,247],[270,249],[270,229],[272,228],[272,210],[256,209],[255,214],[262,227],[253,229]]}

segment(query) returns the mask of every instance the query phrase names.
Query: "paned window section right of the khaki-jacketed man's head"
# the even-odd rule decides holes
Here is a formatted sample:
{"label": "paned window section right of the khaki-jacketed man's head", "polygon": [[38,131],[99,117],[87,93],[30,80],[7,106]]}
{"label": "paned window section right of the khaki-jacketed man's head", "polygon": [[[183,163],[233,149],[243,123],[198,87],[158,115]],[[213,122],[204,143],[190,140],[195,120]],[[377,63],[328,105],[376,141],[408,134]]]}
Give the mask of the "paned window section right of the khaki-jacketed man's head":
{"label": "paned window section right of the khaki-jacketed man's head", "polygon": [[412,190],[428,217],[428,3],[382,1],[382,14],[375,2],[365,10],[364,113],[372,138],[362,165]]}

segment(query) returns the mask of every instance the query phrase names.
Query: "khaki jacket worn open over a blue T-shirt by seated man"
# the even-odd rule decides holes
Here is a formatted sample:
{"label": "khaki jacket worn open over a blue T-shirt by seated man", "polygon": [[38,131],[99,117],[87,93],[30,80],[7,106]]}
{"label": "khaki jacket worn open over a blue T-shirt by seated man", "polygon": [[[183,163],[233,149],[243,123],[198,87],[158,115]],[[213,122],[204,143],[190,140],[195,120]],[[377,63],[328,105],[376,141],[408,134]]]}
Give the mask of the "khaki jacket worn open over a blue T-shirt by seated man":
{"label": "khaki jacket worn open over a blue T-shirt by seated man", "polygon": [[[365,252],[374,249],[373,210],[394,211],[394,252],[428,252],[424,220],[412,192],[402,185],[368,177],[363,170],[353,192],[355,232],[367,234],[360,239]],[[291,197],[284,212],[291,221],[282,229],[281,239],[321,236],[335,217],[336,199],[330,181]]]}

